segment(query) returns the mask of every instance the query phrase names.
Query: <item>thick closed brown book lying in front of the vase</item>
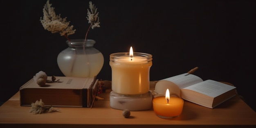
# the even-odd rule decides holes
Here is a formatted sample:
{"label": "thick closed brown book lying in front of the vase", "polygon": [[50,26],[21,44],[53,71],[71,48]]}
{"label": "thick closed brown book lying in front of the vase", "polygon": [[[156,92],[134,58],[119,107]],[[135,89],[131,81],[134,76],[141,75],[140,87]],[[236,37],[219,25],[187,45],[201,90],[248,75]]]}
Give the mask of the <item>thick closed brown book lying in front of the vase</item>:
{"label": "thick closed brown book lying in front of the vase", "polygon": [[39,86],[34,79],[20,87],[20,106],[31,106],[31,103],[42,99],[45,106],[84,107],[93,103],[93,93],[97,90],[98,79],[85,77],[47,76],[44,86]]}

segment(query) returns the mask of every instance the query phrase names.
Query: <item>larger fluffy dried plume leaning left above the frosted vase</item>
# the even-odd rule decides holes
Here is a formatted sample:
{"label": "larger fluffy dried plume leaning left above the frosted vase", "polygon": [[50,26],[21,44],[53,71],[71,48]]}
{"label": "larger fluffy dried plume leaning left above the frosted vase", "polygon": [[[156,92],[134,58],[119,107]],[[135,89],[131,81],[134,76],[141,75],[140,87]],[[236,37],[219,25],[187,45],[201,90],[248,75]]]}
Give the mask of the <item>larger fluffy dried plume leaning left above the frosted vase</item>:
{"label": "larger fluffy dried plume leaning left above the frosted vase", "polygon": [[52,4],[49,4],[49,0],[47,0],[43,8],[43,19],[40,17],[40,22],[46,30],[52,33],[60,33],[61,36],[70,40],[68,36],[74,34],[76,29],[73,30],[73,25],[69,26],[70,21],[66,20],[67,17],[61,18],[61,14],[56,15],[54,7],[51,6]]}

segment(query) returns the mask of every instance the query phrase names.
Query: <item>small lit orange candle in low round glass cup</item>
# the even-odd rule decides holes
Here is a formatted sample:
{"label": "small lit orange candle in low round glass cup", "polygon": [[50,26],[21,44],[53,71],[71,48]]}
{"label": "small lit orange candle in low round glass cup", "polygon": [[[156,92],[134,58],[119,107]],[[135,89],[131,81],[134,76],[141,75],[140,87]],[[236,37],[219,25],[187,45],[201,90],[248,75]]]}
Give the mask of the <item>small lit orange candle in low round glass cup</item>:
{"label": "small lit orange candle in low round glass cup", "polygon": [[182,113],[184,100],[178,97],[170,97],[167,89],[165,97],[153,99],[153,109],[155,114],[161,118],[178,117]]}

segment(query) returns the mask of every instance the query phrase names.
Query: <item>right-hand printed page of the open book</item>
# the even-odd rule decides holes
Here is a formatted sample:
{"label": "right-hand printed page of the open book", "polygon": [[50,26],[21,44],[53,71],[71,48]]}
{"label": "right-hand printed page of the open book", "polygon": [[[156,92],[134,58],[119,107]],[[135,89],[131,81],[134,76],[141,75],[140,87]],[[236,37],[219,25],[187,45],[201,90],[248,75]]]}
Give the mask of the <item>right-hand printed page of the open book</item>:
{"label": "right-hand printed page of the open book", "polygon": [[196,83],[194,85],[188,86],[184,89],[193,90],[195,92],[199,92],[210,97],[217,97],[220,94],[223,94],[229,90],[232,90],[236,87],[227,85],[225,83],[221,83],[213,80],[206,80],[200,83]]}

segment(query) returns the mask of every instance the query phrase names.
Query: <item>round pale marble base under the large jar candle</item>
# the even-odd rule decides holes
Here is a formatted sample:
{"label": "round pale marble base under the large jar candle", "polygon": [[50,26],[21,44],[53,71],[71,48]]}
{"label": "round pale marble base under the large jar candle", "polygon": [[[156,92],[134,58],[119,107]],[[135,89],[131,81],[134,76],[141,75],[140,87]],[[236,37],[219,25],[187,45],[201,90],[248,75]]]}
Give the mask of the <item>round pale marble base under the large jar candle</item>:
{"label": "round pale marble base under the large jar candle", "polygon": [[130,111],[149,110],[152,108],[151,92],[139,95],[123,95],[114,91],[110,92],[110,107]]}

